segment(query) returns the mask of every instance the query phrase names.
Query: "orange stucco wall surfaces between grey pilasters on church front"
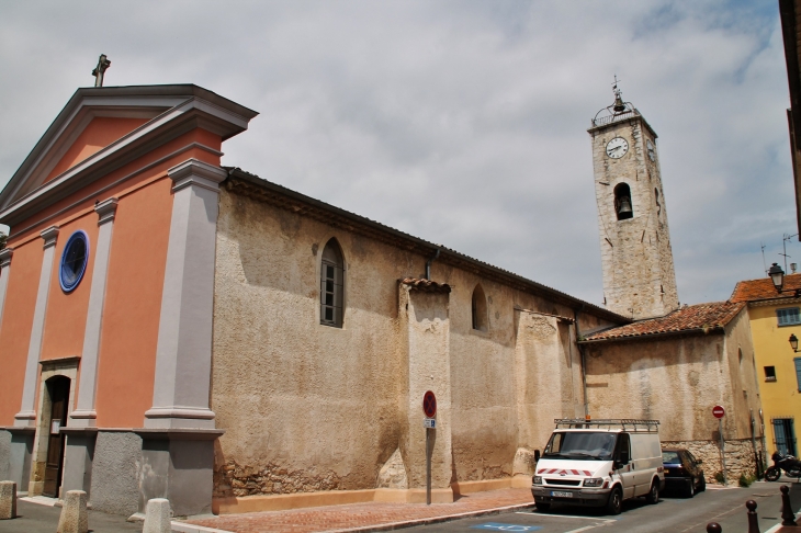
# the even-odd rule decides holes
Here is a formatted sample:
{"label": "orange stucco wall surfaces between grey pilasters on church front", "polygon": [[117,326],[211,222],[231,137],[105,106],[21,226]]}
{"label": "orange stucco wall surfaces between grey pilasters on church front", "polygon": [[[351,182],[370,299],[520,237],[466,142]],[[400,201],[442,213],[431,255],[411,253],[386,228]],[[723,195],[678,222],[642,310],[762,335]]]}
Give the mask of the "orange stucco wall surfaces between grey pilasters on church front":
{"label": "orange stucco wall surfaces between grey pilasters on church front", "polygon": [[[135,129],[142,122],[144,121],[120,118],[117,123],[113,118],[95,118],[87,127],[88,134],[78,137],[61,162],[69,157],[72,165],[79,163],[103,148],[98,143],[102,140],[111,144]],[[92,208],[93,203],[111,196],[120,201],[114,224],[101,333],[101,351],[104,356],[101,358],[102,363],[99,365],[97,402],[99,427],[142,426],[144,413],[150,407],[156,337],[172,209],[170,192],[172,183],[167,177],[167,169],[188,158],[219,166],[219,156],[205,149],[191,147],[181,150],[194,143],[215,150],[222,146],[218,135],[201,128],[192,129],[22,222],[18,225],[23,228],[20,234],[14,233],[15,227],[11,228],[9,247],[14,251],[22,247],[27,253],[14,257],[12,272],[24,271],[26,279],[20,282],[14,280],[11,284],[14,287],[13,294],[26,292],[19,299],[10,297],[7,300],[9,320],[14,320],[15,324],[9,328],[9,332],[31,329],[32,304],[36,299],[38,272],[42,268],[42,239],[38,234],[49,226],[56,226],[59,228],[59,237],[50,276],[40,359],[45,361],[79,356],[83,348],[83,331],[93,273],[94,256],[91,253],[91,243],[97,241],[98,236],[98,215]],[[179,152],[174,154],[176,151]],[[174,155],[169,157],[172,154]],[[69,168],[64,168],[63,172]],[[134,175],[123,181],[123,178],[129,174]],[[53,177],[48,177],[46,181],[52,179]],[[79,229],[86,231],[89,237],[89,261],[78,287],[65,293],[59,285],[56,263],[61,258],[69,236]],[[34,253],[34,249],[37,249],[38,253]],[[147,251],[144,261],[143,250]],[[12,316],[15,318],[12,319]],[[21,320],[26,321],[21,322]],[[10,348],[14,350],[14,362],[19,365],[27,354],[30,338],[25,339],[24,334],[18,333],[13,337],[13,348]],[[4,338],[0,330],[0,343],[2,342]],[[9,353],[9,359],[11,356]],[[16,379],[14,383],[19,382],[20,379]],[[5,388],[8,394],[13,394],[14,389],[13,384],[9,384]],[[36,398],[38,397],[37,388]],[[77,398],[78,395],[74,395],[74,401]],[[0,419],[0,424],[13,423],[13,415],[19,409],[19,405],[15,404],[19,402],[10,401],[8,407],[0,411],[0,416],[3,417]]]}

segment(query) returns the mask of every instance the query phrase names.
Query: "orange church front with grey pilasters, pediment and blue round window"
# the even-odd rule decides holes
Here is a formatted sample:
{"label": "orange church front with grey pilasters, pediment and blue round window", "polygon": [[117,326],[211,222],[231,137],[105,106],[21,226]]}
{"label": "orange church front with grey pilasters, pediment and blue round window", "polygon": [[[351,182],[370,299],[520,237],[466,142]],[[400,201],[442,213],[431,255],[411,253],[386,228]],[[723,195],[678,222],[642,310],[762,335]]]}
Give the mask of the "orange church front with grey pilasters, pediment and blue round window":
{"label": "orange church front with grey pilasters, pediment and blue round window", "polygon": [[[196,86],[80,89],[0,192],[0,476],[21,490],[89,491],[95,444],[114,461],[125,445],[211,452],[221,148],[253,116]],[[205,487],[180,512],[211,511],[211,464],[149,472],[162,483],[136,481],[131,511],[170,483]],[[95,491],[98,509],[120,512],[112,492]]]}

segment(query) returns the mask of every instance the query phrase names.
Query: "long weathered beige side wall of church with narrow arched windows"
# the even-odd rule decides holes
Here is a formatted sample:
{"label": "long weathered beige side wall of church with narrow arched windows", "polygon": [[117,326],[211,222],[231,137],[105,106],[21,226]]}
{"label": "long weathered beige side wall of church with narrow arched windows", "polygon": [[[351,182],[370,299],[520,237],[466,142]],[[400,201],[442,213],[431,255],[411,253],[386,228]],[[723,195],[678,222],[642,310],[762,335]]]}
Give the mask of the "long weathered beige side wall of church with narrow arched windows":
{"label": "long weathered beige side wall of church with narrow arched windows", "polygon": [[[427,257],[228,190],[219,199],[211,407],[225,434],[215,498],[372,489],[398,450],[418,487],[429,388],[443,390],[433,449],[448,487],[510,477],[518,449],[541,449],[554,418],[583,416],[575,325],[556,317],[572,318],[569,307],[433,261],[432,280],[452,292],[432,320],[398,294]],[[342,328],[319,324],[330,238],[345,258]],[[486,331],[472,328],[478,284]],[[530,334],[518,342],[521,313]],[[579,320],[582,331],[610,326]],[[448,328],[442,364],[413,361],[418,327],[422,344]]]}

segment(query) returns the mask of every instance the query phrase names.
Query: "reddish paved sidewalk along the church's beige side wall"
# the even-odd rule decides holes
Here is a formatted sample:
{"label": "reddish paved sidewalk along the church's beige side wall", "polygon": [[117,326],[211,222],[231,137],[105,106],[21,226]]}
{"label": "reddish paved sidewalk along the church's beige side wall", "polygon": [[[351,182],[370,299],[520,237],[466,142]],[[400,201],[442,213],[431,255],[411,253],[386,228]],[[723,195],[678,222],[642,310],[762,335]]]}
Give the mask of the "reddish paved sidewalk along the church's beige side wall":
{"label": "reddish paved sidewalk along the church's beige side wall", "polygon": [[323,531],[386,531],[392,524],[420,524],[458,515],[497,512],[533,506],[530,489],[503,489],[462,496],[453,503],[352,503],[292,511],[223,514],[189,523],[236,533],[311,533]]}

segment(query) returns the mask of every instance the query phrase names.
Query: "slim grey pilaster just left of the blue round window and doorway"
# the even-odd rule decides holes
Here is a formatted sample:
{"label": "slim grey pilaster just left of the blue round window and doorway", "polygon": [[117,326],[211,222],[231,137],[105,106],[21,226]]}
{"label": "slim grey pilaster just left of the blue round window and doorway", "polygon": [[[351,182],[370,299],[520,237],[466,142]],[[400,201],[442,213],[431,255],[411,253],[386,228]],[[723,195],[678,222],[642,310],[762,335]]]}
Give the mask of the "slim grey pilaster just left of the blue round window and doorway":
{"label": "slim grey pilaster just left of the blue round window and doorway", "polygon": [[53,263],[56,254],[56,240],[58,228],[50,226],[42,231],[44,240],[44,256],[42,257],[42,270],[40,272],[38,291],[36,292],[36,306],[33,311],[33,325],[31,326],[31,341],[27,348],[27,361],[25,363],[25,381],[22,387],[22,405],[20,412],[14,415],[14,426],[34,426],[36,411],[36,376],[38,375],[38,361],[42,355],[42,338],[45,330],[45,315],[47,313],[47,296],[50,292],[50,277]]}

